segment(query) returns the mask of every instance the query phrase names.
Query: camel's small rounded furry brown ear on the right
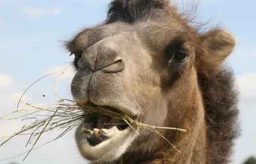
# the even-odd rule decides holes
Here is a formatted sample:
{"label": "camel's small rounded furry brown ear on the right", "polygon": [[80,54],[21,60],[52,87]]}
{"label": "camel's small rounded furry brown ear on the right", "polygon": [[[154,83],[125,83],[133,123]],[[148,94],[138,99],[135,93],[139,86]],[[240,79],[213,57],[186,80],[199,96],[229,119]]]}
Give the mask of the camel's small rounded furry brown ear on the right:
{"label": "camel's small rounded furry brown ear on the right", "polygon": [[216,29],[200,35],[199,57],[200,70],[209,75],[220,70],[223,61],[230,55],[236,45],[236,40],[227,31]]}

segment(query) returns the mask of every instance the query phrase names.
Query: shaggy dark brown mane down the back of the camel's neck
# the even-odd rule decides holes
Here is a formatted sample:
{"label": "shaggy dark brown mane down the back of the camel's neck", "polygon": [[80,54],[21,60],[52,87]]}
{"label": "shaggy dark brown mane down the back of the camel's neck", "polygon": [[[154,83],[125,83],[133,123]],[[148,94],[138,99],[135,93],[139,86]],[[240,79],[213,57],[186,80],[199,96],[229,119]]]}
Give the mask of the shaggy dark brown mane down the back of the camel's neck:
{"label": "shaggy dark brown mane down the back of the camel's neck", "polygon": [[239,136],[238,91],[234,74],[222,68],[208,78],[198,75],[205,105],[208,163],[230,163],[234,139]]}

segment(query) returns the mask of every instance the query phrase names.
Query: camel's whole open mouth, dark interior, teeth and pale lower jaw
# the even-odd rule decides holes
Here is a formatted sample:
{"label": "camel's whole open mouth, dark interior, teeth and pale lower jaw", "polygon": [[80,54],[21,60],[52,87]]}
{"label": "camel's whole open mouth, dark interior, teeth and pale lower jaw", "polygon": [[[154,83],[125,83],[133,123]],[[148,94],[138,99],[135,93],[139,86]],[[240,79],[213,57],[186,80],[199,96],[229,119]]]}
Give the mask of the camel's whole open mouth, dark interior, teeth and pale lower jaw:
{"label": "camel's whole open mouth, dark interior, teeth and pale lower jaw", "polygon": [[[90,103],[90,102],[89,102]],[[95,105],[90,103],[90,105]],[[99,105],[95,105],[99,107]],[[106,107],[113,112],[122,113],[122,108]],[[131,116],[131,115],[128,115]],[[75,138],[81,155],[93,162],[113,161],[129,149],[138,137],[122,119],[104,114],[84,113],[84,119],[76,128]]]}

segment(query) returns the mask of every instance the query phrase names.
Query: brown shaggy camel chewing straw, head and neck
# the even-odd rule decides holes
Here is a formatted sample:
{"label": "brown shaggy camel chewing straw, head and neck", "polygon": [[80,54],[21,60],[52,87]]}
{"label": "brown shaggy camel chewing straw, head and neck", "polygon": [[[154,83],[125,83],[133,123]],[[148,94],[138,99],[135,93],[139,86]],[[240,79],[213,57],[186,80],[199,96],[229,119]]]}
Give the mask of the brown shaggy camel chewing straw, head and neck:
{"label": "brown shaggy camel chewing straw, head and neck", "polygon": [[108,116],[84,116],[75,132],[90,163],[230,163],[239,135],[238,91],[224,64],[236,40],[202,32],[167,0],[115,0],[106,21],[67,41],[78,104],[109,107],[154,126],[138,129]]}

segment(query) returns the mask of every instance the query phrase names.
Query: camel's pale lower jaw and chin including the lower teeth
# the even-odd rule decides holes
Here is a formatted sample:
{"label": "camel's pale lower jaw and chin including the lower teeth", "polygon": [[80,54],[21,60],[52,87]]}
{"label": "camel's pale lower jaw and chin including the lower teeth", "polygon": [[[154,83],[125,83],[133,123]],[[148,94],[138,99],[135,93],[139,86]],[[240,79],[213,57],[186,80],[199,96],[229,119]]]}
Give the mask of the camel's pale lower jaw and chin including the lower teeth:
{"label": "camel's pale lower jaw and chin including the lower teeth", "polygon": [[130,127],[118,130],[97,129],[81,123],[76,129],[76,144],[81,155],[91,162],[114,161],[124,154],[138,134]]}

